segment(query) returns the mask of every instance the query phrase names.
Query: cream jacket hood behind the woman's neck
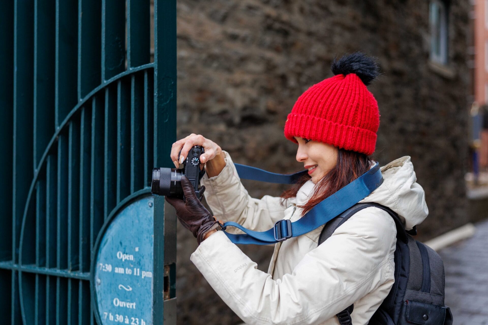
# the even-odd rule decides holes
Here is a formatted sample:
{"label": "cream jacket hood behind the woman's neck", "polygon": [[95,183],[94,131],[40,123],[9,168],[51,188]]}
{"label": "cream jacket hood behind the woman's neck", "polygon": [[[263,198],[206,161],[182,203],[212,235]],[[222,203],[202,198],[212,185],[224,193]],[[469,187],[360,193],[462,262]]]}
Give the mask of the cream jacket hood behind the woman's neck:
{"label": "cream jacket hood behind the woman's neck", "polygon": [[428,215],[425,192],[417,184],[409,156],[393,160],[381,167],[383,184],[360,203],[376,202],[398,213],[405,229],[422,223]]}

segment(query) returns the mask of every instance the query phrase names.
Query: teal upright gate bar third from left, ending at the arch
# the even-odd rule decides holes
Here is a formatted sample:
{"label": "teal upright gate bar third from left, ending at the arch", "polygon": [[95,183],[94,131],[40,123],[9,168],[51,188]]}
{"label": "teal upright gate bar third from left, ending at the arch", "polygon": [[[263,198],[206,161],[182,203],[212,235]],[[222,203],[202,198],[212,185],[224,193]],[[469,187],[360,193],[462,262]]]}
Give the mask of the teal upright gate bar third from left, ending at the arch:
{"label": "teal upright gate bar third from left, ending at the arch", "polygon": [[54,0],[34,0],[35,170],[55,131],[55,8]]}

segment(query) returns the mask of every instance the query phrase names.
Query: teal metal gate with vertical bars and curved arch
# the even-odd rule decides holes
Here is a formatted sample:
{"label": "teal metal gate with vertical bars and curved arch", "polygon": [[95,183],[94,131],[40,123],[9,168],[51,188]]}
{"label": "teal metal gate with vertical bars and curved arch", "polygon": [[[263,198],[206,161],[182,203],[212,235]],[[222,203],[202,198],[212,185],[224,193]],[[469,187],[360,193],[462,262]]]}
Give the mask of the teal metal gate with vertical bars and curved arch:
{"label": "teal metal gate with vertical bars and curved arch", "polygon": [[172,165],[176,0],[5,0],[0,30],[1,323],[115,323],[96,258],[145,199],[152,319],[119,323],[175,324],[176,221],[149,187]]}

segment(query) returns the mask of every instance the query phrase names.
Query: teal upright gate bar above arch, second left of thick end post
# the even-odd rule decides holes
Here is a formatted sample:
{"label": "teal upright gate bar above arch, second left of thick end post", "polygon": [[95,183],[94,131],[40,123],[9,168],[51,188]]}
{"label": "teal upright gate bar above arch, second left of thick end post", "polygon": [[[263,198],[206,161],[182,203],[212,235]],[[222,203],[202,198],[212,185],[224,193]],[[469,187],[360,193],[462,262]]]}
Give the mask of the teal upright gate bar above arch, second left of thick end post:
{"label": "teal upright gate bar above arch, second left of thick end post", "polygon": [[102,82],[125,69],[124,2],[102,0]]}

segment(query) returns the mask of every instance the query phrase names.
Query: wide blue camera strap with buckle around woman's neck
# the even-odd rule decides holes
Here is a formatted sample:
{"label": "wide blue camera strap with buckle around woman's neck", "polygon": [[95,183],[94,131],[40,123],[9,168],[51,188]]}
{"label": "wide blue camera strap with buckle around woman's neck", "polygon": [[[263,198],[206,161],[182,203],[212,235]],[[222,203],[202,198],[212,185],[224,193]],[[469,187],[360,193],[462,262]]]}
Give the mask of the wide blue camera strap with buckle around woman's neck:
{"label": "wide blue camera strap with buckle around woman's neck", "polygon": [[[294,174],[276,174],[266,172],[255,167],[235,164],[239,177],[266,181],[270,183],[292,184],[307,171]],[[240,224],[229,221],[224,223],[223,230],[232,226],[239,228],[245,234],[232,234],[226,231],[225,234],[235,244],[256,244],[270,245],[284,241],[291,237],[296,237],[310,232],[325,225],[345,210],[349,209],[372,191],[376,190],[383,183],[383,176],[378,163],[345,187],[325,198],[322,202],[313,207],[297,221],[279,220],[274,227],[266,231],[254,231],[244,228]]]}

